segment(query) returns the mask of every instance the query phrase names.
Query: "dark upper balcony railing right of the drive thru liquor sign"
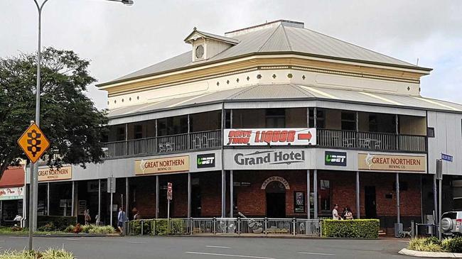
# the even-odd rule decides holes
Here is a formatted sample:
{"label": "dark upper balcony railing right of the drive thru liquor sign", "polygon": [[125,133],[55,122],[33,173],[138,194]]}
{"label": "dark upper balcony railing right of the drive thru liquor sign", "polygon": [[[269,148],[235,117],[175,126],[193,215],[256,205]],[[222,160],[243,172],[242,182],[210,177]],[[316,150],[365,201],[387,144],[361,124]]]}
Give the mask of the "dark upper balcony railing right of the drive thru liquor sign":
{"label": "dark upper balcony railing right of the drive thru liquor sign", "polygon": [[360,148],[403,152],[425,152],[426,137],[317,129],[317,145],[329,148]]}

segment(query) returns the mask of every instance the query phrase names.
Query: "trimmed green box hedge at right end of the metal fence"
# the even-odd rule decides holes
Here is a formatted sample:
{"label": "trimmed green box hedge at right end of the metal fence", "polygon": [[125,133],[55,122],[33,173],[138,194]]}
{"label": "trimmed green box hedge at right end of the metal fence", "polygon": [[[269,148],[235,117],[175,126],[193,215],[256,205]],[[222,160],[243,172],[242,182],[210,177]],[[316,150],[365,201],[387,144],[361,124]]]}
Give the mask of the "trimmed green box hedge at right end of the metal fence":
{"label": "trimmed green box hedge at right end of the metal fence", "polygon": [[379,238],[380,221],[378,219],[324,219],[321,224],[323,237]]}

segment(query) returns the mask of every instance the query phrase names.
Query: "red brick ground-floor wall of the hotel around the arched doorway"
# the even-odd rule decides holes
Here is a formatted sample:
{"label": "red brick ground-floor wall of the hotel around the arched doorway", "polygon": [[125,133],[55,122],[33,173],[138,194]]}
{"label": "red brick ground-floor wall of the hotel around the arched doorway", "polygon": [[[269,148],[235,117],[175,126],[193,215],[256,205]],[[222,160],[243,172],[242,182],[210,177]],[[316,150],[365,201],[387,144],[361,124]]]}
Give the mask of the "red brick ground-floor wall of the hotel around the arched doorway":
{"label": "red brick ground-floor wall of the hotel around the arched doorway", "polygon": [[[268,177],[279,176],[289,182],[290,189],[286,190],[286,217],[306,217],[305,213],[294,213],[294,192],[304,192],[306,195],[306,170],[263,170],[263,171],[235,171],[235,182],[250,182],[249,187],[234,187],[237,194],[237,210],[247,216],[266,216],[266,192],[261,189],[262,183]],[[340,211],[344,206],[350,206],[353,215],[356,216],[355,197],[355,172],[341,171],[318,171],[318,191],[321,191],[321,180],[329,180],[331,184],[331,206],[338,204]],[[393,189],[394,173],[360,173],[360,210],[362,217],[365,216],[364,188],[375,186],[377,216],[396,215],[396,195]],[[201,196],[201,216],[213,217],[221,215],[221,172],[197,172],[192,178],[198,178]],[[154,177],[131,178],[131,184],[136,185],[136,206],[140,209],[141,216],[155,216],[155,192],[156,182]],[[166,182],[173,183],[173,217],[187,216],[188,202],[188,176],[187,174],[163,175],[160,177],[161,186]],[[400,182],[407,182],[407,190],[401,192],[401,214],[402,216],[421,215],[421,198],[419,175],[400,175]],[[311,192],[313,192],[313,171],[311,171]],[[227,172],[227,213],[229,213],[229,172]],[[161,189],[161,202],[166,199],[165,190]],[[385,199],[385,194],[392,194],[392,199]],[[305,201],[307,203],[308,201]],[[321,206],[321,201],[318,200]],[[165,204],[159,204],[160,215],[166,214]],[[331,208],[332,209],[332,208]],[[321,211],[320,215],[330,216],[331,210]],[[237,216],[237,215],[235,215]]]}

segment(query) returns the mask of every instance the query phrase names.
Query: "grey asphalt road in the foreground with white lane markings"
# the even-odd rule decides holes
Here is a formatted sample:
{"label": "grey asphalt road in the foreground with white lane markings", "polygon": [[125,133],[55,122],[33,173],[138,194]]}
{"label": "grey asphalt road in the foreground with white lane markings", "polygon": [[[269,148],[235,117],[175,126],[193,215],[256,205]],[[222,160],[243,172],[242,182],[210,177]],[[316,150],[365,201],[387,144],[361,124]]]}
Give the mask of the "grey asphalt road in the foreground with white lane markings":
{"label": "grey asphalt road in the foreground with white lane markings", "polygon": [[[0,247],[23,249],[27,237],[0,236]],[[248,258],[248,259],[331,259],[406,258],[398,250],[406,241],[326,240],[291,238],[215,238],[215,237],[77,237],[34,238],[34,247],[62,248],[78,259],[163,259],[163,258]]]}

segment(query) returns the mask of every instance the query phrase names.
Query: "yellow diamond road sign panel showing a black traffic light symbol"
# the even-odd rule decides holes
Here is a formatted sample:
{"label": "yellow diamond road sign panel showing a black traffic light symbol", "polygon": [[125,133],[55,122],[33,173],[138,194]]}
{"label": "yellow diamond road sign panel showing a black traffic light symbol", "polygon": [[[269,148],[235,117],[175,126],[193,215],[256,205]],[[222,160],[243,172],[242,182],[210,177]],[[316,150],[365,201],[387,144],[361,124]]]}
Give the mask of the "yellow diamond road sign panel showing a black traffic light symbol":
{"label": "yellow diamond road sign panel showing a black traffic light symbol", "polygon": [[36,123],[32,123],[23,136],[18,139],[19,146],[24,150],[31,162],[37,162],[39,158],[50,147],[50,142],[45,134],[38,128]]}

